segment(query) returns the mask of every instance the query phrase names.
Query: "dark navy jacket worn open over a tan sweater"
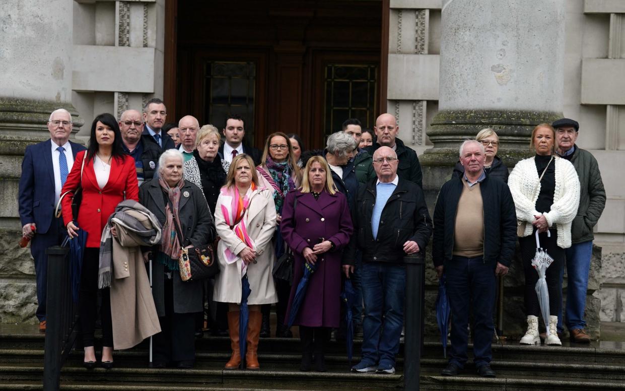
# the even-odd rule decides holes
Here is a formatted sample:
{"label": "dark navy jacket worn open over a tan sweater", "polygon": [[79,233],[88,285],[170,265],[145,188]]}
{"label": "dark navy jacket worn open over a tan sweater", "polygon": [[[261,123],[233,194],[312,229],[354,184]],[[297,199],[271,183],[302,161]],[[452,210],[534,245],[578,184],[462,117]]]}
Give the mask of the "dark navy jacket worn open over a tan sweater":
{"label": "dark navy jacket worn open over a tan sweater", "polygon": [[[454,250],[454,226],[462,180],[451,178],[441,187],[434,207],[434,266],[450,262]],[[516,246],[516,210],[508,186],[486,176],[479,189],[484,203],[484,262],[509,266]]]}

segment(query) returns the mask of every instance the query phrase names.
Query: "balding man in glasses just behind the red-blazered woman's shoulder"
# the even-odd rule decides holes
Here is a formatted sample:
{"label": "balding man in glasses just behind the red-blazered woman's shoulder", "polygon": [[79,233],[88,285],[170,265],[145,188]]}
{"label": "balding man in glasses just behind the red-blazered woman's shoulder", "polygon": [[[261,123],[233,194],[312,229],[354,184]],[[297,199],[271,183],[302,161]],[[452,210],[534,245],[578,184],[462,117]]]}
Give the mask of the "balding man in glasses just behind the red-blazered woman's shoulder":
{"label": "balding man in glasses just behind the red-blazered woman's shoulder", "polygon": [[143,134],[141,113],[137,110],[126,110],[119,117],[119,131],[123,148],[128,155],[133,156],[137,169],[139,186],[143,181],[154,178],[158,170],[158,158],[163,153],[150,135]]}

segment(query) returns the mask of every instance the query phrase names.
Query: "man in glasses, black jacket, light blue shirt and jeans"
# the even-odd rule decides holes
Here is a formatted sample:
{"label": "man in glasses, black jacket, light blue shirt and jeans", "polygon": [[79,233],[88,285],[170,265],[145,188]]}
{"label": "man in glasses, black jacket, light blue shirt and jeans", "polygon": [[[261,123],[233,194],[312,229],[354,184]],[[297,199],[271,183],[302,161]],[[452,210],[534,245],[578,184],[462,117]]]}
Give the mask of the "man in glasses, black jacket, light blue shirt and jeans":
{"label": "man in glasses, black jacket, light blue shirt and jeans", "polygon": [[[354,233],[362,251],[362,360],[353,372],[394,373],[404,323],[404,256],[425,253],[432,233],[423,192],[397,175],[397,154],[382,146],[373,155],[377,178],[356,196]],[[346,268],[346,267],[344,267]]]}

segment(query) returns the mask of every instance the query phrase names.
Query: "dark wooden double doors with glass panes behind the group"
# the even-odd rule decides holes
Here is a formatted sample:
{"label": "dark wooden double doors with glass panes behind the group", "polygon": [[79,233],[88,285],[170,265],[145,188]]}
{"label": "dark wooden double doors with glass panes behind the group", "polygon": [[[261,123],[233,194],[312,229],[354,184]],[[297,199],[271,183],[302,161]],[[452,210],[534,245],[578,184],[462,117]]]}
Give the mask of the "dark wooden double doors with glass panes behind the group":
{"label": "dark wooden double doors with glass panes behind the group", "polygon": [[177,54],[165,76],[176,119],[192,114],[222,129],[227,114],[241,114],[257,147],[282,131],[310,149],[344,119],[371,128],[381,112],[381,2],[175,5]]}

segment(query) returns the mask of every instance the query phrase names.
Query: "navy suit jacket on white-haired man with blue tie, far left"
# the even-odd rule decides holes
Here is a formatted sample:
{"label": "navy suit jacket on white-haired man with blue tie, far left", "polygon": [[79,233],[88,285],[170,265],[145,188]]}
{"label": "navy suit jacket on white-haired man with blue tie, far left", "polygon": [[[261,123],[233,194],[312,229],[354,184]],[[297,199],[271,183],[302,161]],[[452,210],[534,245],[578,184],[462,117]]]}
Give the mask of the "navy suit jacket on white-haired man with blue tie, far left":
{"label": "navy suit jacket on white-haired man with blue tie, far left", "polygon": [[[76,153],[86,148],[69,141],[76,163]],[[54,215],[54,168],[52,163],[52,141],[29,145],[24,151],[22,175],[18,190],[19,220],[22,226],[35,223],[37,234],[44,234],[50,228]]]}

